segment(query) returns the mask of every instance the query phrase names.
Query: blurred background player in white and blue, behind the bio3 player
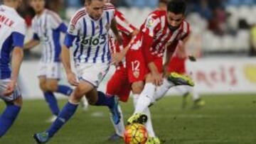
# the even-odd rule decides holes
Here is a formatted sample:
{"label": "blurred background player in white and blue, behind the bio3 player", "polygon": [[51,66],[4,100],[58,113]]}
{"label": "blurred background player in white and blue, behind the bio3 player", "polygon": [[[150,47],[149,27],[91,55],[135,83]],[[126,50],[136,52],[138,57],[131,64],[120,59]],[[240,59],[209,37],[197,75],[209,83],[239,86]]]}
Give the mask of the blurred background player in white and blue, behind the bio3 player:
{"label": "blurred background player in white and blue, behind the bio3 player", "polygon": [[70,87],[58,84],[61,75],[60,33],[65,33],[68,28],[57,13],[45,9],[45,0],[30,0],[30,3],[36,16],[32,20],[33,39],[24,45],[24,49],[35,48],[41,43],[42,56],[38,65],[39,86],[53,113],[47,121],[53,122],[60,112],[53,93],[70,96],[73,92]]}

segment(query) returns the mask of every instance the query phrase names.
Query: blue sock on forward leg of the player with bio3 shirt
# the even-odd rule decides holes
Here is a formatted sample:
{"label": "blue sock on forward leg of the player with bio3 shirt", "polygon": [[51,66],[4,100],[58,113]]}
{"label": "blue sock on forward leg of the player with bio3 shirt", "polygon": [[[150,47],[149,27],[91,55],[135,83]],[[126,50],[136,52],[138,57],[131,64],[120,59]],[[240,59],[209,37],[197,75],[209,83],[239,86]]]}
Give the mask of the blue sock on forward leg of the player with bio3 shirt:
{"label": "blue sock on forward leg of the player with bio3 shirt", "polygon": [[53,137],[53,135],[57,133],[57,131],[73,116],[77,108],[78,104],[72,104],[70,101],[68,101],[68,103],[60,111],[58,118],[56,118],[48,131],[46,131],[50,138]]}

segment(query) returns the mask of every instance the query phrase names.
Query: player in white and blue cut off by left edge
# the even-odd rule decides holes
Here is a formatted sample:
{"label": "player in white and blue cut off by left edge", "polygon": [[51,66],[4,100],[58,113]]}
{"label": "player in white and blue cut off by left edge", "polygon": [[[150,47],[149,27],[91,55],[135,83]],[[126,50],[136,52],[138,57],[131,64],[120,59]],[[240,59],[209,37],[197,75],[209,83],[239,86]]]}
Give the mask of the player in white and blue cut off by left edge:
{"label": "player in white and blue cut off by left edge", "polygon": [[17,79],[23,59],[26,26],[16,12],[21,2],[4,0],[4,4],[0,5],[0,99],[6,103],[6,109],[0,117],[0,138],[14,123],[22,105]]}

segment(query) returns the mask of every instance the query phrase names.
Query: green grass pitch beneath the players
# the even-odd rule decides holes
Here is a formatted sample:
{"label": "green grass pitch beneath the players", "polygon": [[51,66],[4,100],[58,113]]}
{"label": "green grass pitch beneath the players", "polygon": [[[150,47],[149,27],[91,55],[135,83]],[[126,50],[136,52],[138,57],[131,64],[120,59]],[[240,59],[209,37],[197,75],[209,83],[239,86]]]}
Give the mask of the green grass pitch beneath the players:
{"label": "green grass pitch beneath the players", "polygon": [[[203,96],[202,109],[181,109],[181,97],[169,96],[151,107],[154,129],[164,143],[177,144],[255,144],[256,94]],[[67,100],[60,100],[63,106]],[[122,104],[124,117],[132,114],[132,99]],[[4,111],[0,102],[0,112]],[[23,109],[2,144],[31,144],[33,133],[46,130],[50,111],[45,101],[24,101]],[[50,140],[50,144],[108,144],[113,133],[109,113],[104,107],[78,109],[75,116]],[[117,143],[122,143],[122,140]],[[115,144],[115,143],[114,143]]]}

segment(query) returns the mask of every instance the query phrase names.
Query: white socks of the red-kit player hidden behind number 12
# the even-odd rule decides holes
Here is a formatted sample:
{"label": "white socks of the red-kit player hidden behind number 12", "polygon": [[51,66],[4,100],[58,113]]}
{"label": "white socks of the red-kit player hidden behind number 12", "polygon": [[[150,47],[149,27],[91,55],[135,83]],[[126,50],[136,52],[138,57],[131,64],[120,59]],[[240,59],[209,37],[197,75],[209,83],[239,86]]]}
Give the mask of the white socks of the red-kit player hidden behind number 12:
{"label": "white socks of the red-kit player hidden behind number 12", "polygon": [[[137,105],[137,101],[138,101],[138,99],[139,99],[139,94],[134,94],[133,98],[134,98],[134,108],[135,108],[136,105]],[[154,138],[155,138],[155,137],[156,137],[156,134],[154,133],[154,129],[153,129],[153,126],[152,126],[151,113],[150,113],[150,111],[149,111],[149,107],[147,107],[147,108],[145,109],[144,114],[146,114],[146,116],[147,116],[147,118],[148,118],[148,120],[147,120],[146,123],[145,123],[146,130],[147,130],[147,132],[149,133],[149,135],[150,135],[151,137],[154,137]]]}

